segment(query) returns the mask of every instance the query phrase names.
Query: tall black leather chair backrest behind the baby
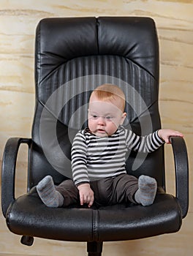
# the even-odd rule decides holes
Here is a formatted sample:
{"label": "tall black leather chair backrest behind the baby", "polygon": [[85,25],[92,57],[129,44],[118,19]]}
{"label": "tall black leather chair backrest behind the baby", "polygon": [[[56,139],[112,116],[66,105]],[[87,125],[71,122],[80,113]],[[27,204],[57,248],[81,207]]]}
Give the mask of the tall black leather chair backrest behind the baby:
{"label": "tall black leather chair backrest behind the baby", "polygon": [[[126,94],[125,126],[146,135],[159,129],[159,44],[154,20],[139,17],[47,18],[35,50],[36,109],[30,186],[50,174],[71,178],[70,148],[86,126],[88,99],[102,83]],[[129,152],[127,172],[154,176],[164,187],[163,147]]]}

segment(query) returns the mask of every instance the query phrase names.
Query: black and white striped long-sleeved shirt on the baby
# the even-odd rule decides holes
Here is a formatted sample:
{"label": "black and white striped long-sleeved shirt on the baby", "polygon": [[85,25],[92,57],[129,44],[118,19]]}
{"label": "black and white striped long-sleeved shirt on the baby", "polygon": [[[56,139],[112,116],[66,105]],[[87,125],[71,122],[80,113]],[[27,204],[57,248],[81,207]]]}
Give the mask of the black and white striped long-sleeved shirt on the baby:
{"label": "black and white striped long-sleeved shirt on the baby", "polygon": [[126,152],[150,153],[163,143],[158,131],[138,136],[121,126],[113,135],[100,138],[88,128],[83,129],[77,132],[72,143],[73,181],[77,185],[126,173]]}

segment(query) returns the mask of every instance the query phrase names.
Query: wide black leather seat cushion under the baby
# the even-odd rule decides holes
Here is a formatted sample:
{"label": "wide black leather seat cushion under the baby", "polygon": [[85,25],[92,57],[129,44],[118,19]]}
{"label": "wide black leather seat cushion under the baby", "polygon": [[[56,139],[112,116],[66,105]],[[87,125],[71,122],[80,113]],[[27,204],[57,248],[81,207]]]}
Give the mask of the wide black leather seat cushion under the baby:
{"label": "wide black leather seat cushion under the baby", "polygon": [[181,210],[178,200],[164,192],[158,193],[154,204],[146,207],[120,204],[48,208],[34,188],[10,205],[7,225],[22,236],[61,241],[123,241],[178,231]]}

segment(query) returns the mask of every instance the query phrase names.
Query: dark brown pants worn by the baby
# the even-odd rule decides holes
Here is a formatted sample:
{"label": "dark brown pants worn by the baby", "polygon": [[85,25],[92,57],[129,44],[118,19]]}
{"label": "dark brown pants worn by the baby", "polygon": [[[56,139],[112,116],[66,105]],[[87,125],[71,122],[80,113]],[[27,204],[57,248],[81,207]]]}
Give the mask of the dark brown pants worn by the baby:
{"label": "dark brown pants worn by the baby", "polygon": [[[91,181],[96,206],[110,206],[116,203],[136,203],[135,192],[138,189],[138,179],[135,176],[121,174],[113,178],[102,178]],[[63,207],[80,203],[79,191],[72,180],[61,182],[56,190],[64,197]]]}

